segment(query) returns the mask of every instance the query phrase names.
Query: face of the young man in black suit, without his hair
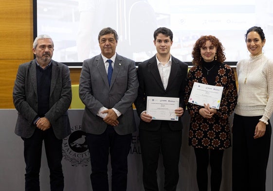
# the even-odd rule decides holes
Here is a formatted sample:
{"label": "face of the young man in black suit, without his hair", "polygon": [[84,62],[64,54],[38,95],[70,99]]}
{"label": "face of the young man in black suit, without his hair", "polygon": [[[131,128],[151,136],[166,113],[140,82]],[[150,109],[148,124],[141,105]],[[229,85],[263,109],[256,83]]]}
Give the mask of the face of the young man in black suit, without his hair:
{"label": "face of the young man in black suit, without his hair", "polygon": [[173,41],[171,41],[169,36],[165,36],[162,33],[156,36],[154,40],[154,45],[156,47],[158,54],[169,54]]}

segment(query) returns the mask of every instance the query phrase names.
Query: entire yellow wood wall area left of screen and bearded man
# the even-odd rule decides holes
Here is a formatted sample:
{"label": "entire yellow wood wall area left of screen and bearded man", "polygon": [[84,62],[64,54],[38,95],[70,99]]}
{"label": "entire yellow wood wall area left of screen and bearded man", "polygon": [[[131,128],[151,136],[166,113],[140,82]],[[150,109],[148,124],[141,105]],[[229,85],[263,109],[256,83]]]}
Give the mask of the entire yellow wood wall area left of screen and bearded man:
{"label": "entire yellow wood wall area left of screen and bearded man", "polygon": [[32,0],[0,0],[0,109],[14,108],[18,65],[33,59]]}

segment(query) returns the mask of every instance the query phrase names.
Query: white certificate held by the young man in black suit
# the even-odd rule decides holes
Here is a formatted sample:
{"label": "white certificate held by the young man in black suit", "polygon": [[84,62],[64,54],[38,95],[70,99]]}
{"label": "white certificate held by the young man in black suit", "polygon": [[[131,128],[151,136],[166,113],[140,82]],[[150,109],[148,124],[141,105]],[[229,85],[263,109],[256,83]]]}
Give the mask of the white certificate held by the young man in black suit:
{"label": "white certificate held by the young man in black suit", "polygon": [[152,116],[153,120],[178,121],[175,109],[179,108],[179,98],[147,96],[146,113]]}

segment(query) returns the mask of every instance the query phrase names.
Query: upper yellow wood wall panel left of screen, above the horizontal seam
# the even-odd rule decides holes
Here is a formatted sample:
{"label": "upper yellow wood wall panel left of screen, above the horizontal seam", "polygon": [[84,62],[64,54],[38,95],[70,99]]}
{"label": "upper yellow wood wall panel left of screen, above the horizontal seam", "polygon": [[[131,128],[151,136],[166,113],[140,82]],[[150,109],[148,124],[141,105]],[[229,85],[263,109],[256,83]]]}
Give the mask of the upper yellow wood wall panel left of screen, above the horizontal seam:
{"label": "upper yellow wood wall panel left of screen, above the horizontal seam", "polygon": [[0,29],[0,59],[33,58],[32,0],[1,0]]}

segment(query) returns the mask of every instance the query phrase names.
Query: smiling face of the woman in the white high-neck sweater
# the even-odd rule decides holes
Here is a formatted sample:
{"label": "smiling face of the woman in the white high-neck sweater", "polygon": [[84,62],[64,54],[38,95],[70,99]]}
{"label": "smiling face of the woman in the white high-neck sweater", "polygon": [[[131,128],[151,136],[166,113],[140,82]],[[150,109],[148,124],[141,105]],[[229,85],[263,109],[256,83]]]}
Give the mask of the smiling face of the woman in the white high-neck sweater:
{"label": "smiling face of the woman in the white high-neck sweater", "polygon": [[262,53],[262,48],[265,44],[265,39],[262,41],[260,35],[255,32],[249,32],[246,38],[246,46],[252,56]]}

